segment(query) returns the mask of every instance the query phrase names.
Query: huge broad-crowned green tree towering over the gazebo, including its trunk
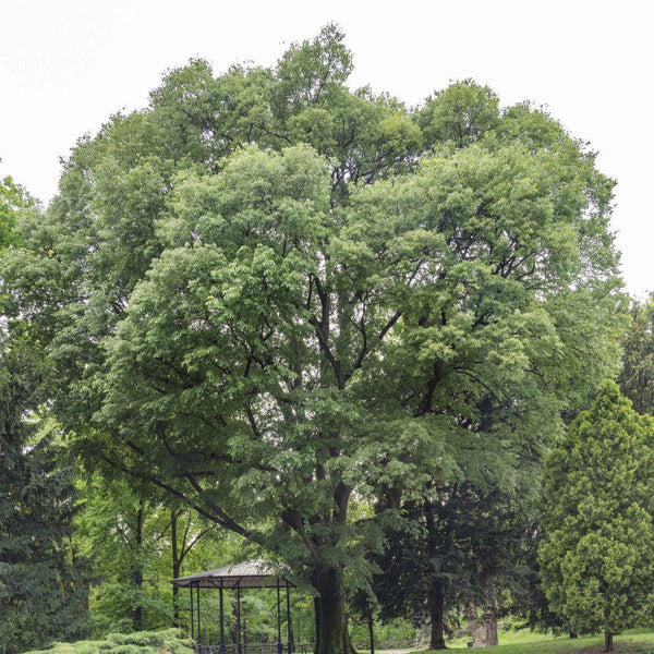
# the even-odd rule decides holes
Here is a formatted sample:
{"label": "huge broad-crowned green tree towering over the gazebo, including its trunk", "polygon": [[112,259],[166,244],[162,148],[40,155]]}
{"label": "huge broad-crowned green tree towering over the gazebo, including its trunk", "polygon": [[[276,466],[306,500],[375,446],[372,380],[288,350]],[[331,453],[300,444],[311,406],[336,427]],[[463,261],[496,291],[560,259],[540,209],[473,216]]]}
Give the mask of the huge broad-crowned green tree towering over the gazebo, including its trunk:
{"label": "huge broad-crowned green tree towering over the gazebo, including its trunk", "polygon": [[352,92],[342,41],[170,71],[3,263],[81,451],[292,562],[319,654],[402,497],[510,485],[617,358],[593,155],[472,82],[421,112]]}

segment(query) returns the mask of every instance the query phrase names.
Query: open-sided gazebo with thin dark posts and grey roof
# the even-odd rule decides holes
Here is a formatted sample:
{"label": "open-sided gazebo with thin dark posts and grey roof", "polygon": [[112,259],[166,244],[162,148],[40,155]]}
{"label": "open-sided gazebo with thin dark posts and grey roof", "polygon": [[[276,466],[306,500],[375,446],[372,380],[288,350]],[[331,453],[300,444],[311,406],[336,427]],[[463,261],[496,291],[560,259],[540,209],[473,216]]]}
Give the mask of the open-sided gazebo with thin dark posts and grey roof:
{"label": "open-sided gazebo with thin dark posts and grey roof", "polygon": [[[291,601],[290,589],[294,584],[286,577],[282,577],[283,568],[275,567],[269,561],[258,559],[225,566],[216,570],[206,572],[196,572],[187,577],[180,577],[171,580],[170,583],[179,588],[187,588],[191,594],[191,638],[197,633],[196,650],[206,654],[253,654],[256,651],[259,654],[288,654],[295,651],[293,643],[293,630],[291,627]],[[202,614],[199,603],[199,590],[217,590],[220,605],[220,643],[202,644]],[[277,589],[277,644],[247,644],[241,639],[241,592],[245,589]],[[281,589],[286,589],[286,609],[287,609],[287,642],[281,640]],[[235,606],[235,643],[227,644],[225,642],[225,600],[223,591],[232,591],[237,594]]]}

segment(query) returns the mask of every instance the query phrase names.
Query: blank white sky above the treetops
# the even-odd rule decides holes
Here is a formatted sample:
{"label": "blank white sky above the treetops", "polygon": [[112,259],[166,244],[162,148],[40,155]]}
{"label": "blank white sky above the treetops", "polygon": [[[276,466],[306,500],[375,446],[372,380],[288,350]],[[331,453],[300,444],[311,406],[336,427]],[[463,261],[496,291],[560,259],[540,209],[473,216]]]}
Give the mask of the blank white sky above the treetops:
{"label": "blank white sky above the treetops", "polygon": [[650,0],[0,0],[0,175],[47,202],[59,157],[162,73],[274,64],[328,21],[354,53],[352,86],[414,105],[451,80],[531,99],[618,180],[613,228],[630,293],[654,290],[654,2]]}

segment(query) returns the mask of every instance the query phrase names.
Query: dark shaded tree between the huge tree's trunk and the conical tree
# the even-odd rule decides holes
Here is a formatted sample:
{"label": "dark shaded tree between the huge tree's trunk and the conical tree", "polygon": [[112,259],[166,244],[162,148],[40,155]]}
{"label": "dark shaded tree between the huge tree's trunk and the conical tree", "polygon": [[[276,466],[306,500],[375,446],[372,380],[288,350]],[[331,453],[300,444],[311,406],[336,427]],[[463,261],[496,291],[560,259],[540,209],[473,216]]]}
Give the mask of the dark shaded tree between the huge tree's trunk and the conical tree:
{"label": "dark shaded tree between the huge tree's trunk and the conical tree", "polygon": [[399,528],[375,559],[382,619],[425,623],[428,649],[443,650],[448,615],[456,621],[464,614],[475,646],[497,644],[502,598],[516,613],[525,603],[528,534],[538,487],[534,479],[512,492],[457,482],[405,502]]}

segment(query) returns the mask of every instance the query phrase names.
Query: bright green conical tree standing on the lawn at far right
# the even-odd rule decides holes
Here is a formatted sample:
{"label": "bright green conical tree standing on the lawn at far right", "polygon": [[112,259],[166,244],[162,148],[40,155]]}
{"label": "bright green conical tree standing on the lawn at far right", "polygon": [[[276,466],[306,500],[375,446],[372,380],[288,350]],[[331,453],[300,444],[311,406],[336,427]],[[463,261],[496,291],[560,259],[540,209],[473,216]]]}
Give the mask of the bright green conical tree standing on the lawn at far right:
{"label": "bright green conical tree standing on the lawn at far right", "polygon": [[639,625],[654,571],[654,423],[606,383],[553,452],[543,499],[541,574],[574,631]]}

